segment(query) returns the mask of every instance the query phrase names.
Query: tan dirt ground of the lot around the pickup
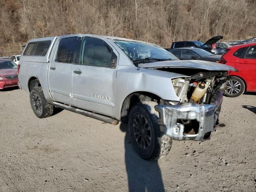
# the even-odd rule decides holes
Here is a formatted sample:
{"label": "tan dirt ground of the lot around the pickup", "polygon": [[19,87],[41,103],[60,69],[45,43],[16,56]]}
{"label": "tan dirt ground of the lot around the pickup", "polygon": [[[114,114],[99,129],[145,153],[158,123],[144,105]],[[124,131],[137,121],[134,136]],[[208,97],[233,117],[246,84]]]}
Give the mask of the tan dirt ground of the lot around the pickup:
{"label": "tan dirt ground of the lot around the pickup", "polygon": [[126,134],[66,110],[37,118],[23,90],[0,91],[0,192],[256,191],[256,94],[226,98],[205,142],[173,141],[155,162]]}

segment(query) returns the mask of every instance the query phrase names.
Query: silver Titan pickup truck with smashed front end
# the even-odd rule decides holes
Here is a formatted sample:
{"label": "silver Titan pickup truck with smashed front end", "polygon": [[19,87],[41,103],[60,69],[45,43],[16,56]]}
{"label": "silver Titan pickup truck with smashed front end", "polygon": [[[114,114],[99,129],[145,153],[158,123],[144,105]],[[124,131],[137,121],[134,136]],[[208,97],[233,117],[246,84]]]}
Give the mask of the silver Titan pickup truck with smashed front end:
{"label": "silver Titan pickup truck with smashed front end", "polygon": [[87,34],[28,42],[18,85],[38,118],[62,108],[110,124],[128,123],[144,159],[170,151],[172,139],[210,139],[218,125],[220,87],[234,68],[178,60],[160,46]]}

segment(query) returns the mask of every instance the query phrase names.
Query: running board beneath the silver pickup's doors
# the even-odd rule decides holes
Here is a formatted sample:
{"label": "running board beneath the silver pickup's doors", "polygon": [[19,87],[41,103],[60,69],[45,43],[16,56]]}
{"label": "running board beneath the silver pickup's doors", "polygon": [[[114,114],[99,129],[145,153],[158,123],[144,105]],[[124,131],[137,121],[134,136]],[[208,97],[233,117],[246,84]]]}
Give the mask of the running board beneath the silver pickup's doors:
{"label": "running board beneath the silver pickup's doors", "polygon": [[90,117],[90,118],[97,119],[97,120],[100,120],[100,121],[103,121],[103,122],[106,122],[106,123],[110,123],[112,125],[117,125],[119,123],[118,120],[112,119],[110,117],[106,117],[106,116],[103,116],[103,115],[100,115],[100,114],[96,114],[96,113],[93,113],[93,112],[89,112],[89,111],[86,111],[86,110],[75,108],[75,107],[65,105],[65,104],[62,104],[62,103],[53,102],[52,105],[55,106],[55,107],[58,107],[58,108],[66,109],[66,110],[69,110],[69,111],[72,111],[72,112]]}

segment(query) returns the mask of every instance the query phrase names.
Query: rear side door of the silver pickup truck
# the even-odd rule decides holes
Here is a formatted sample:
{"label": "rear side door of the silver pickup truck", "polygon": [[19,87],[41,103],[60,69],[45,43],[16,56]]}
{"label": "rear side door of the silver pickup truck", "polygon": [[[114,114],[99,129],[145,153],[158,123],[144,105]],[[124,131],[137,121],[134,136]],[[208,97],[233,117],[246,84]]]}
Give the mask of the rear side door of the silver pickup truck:
{"label": "rear side door of the silver pickup truck", "polygon": [[80,39],[77,36],[59,39],[56,57],[50,61],[48,82],[52,97],[65,104],[73,104],[73,65],[78,60]]}

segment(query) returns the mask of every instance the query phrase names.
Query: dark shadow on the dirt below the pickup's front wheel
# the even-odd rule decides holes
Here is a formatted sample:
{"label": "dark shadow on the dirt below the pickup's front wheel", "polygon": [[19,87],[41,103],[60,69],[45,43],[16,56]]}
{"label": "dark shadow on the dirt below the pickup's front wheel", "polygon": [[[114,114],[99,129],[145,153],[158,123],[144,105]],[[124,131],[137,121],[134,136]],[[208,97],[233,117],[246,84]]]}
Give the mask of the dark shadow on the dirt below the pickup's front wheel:
{"label": "dark shadow on the dirt below the pickup's front wheel", "polygon": [[129,141],[127,124],[121,123],[120,130],[126,132],[124,147],[129,192],[164,192],[158,161],[147,161],[136,154]]}

